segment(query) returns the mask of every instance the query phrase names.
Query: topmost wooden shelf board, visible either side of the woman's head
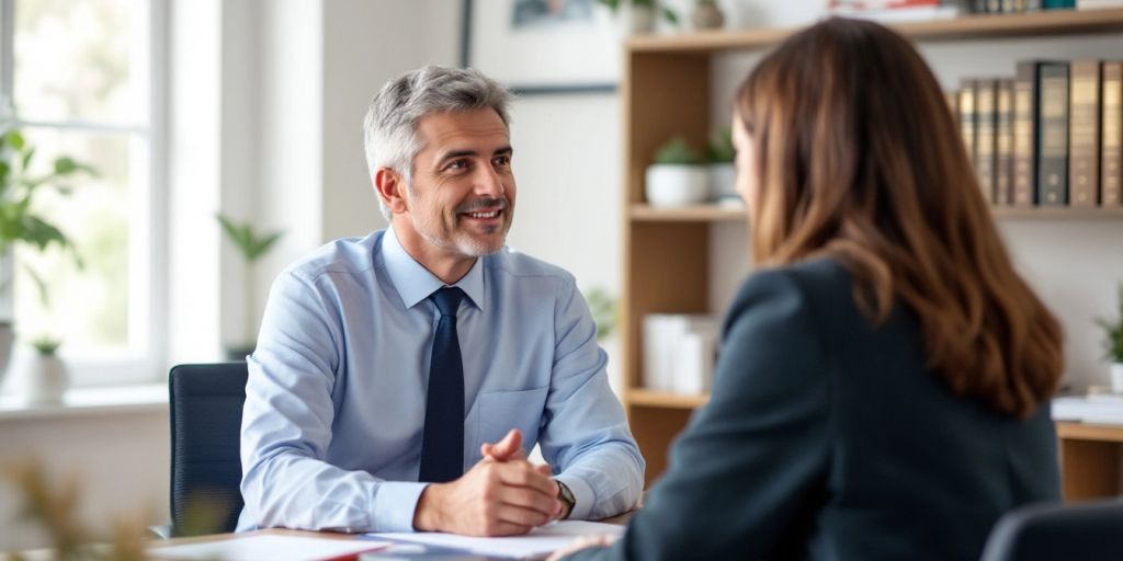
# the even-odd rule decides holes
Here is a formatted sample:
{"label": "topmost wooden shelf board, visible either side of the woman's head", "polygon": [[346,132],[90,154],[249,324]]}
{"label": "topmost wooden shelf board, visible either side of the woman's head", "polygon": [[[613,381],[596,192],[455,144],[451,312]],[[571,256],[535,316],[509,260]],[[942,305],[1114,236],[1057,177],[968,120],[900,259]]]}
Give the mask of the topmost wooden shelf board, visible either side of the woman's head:
{"label": "topmost wooden shelf board, visible either side of the woman's head", "polygon": [[[1004,39],[1058,35],[1088,35],[1123,29],[1123,9],[1053,10],[1028,13],[974,15],[949,20],[889,26],[923,42]],[[794,28],[699,31],[672,36],[637,36],[627,43],[632,53],[713,54],[770,47]]]}

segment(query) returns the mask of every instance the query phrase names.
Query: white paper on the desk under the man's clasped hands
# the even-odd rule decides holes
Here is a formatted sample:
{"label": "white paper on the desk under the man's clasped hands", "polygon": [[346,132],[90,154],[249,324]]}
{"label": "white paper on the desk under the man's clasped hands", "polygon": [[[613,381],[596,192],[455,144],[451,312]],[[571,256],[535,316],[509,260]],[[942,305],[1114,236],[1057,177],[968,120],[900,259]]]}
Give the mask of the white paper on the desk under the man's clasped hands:
{"label": "white paper on the desk under the man's clasped hands", "polygon": [[530,531],[527,535],[506,537],[472,537],[439,532],[404,534],[368,534],[384,540],[451,548],[478,555],[510,559],[539,559],[565,548],[583,535],[620,536],[624,526],[603,522],[559,521]]}

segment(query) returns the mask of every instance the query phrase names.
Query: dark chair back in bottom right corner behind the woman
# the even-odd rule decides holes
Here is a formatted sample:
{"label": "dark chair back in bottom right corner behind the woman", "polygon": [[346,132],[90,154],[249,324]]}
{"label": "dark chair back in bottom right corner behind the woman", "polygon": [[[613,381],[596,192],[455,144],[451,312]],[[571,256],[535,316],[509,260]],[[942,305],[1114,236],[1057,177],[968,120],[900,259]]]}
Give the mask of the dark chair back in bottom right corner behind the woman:
{"label": "dark chair back in bottom right corner behind the woman", "polygon": [[1123,499],[1030,505],[1003,516],[983,561],[1123,559]]}

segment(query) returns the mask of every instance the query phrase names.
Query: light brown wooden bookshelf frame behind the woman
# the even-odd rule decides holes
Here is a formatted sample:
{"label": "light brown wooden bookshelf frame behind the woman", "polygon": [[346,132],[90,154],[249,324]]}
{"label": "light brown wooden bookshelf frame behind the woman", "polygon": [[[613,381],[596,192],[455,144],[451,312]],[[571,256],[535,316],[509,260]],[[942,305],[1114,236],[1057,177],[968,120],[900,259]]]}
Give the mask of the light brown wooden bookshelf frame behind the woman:
{"label": "light brown wooden bookshelf frame behind the woman", "polygon": [[[980,15],[893,27],[920,43],[1096,35],[1123,33],[1123,9]],[[710,312],[711,227],[743,222],[746,212],[742,208],[712,204],[649,206],[643,199],[645,169],[658,145],[672,136],[682,135],[695,146],[703,146],[709,138],[713,55],[765,49],[794,31],[747,29],[640,36],[624,44],[620,88],[624,223],[621,364],[624,407],[648,462],[648,484],[663,472],[672,440],[707,397],[643,388],[642,318],[651,313]],[[1004,221],[1123,220],[1123,209],[995,208],[994,215]]]}

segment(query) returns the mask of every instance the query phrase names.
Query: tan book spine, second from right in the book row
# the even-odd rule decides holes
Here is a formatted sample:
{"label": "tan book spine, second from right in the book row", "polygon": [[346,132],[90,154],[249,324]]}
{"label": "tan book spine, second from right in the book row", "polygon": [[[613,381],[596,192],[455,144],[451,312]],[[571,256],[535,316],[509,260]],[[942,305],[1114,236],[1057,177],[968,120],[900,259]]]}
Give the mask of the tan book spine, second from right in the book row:
{"label": "tan book spine, second from right in the book row", "polygon": [[1099,61],[1074,61],[1069,92],[1069,203],[1099,204]]}

